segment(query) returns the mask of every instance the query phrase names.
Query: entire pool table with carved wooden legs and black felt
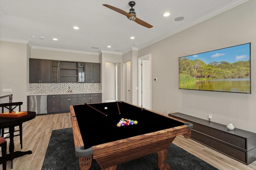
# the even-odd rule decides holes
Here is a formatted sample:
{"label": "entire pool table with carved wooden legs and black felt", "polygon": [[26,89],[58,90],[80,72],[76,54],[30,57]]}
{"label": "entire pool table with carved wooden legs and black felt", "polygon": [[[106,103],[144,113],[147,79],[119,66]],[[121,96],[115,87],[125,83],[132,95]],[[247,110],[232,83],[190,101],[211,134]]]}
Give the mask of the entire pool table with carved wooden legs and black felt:
{"label": "entire pool table with carved wooden legs and black felt", "polygon": [[[76,156],[81,170],[90,169],[92,158],[102,170],[157,152],[160,170],[170,170],[164,161],[177,135],[190,138],[193,125],[127,102],[70,106]],[[131,119],[137,124],[118,127]],[[132,124],[132,123],[131,123]]]}

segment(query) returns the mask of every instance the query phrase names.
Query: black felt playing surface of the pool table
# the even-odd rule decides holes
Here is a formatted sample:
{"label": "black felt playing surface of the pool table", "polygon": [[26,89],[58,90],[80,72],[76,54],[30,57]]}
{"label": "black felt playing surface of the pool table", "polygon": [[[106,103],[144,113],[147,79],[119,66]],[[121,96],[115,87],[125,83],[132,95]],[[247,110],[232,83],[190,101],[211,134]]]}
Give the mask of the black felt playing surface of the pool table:
{"label": "black felt playing surface of the pool table", "polygon": [[[74,112],[85,149],[184,125],[180,121],[126,102],[74,105]],[[117,123],[122,118],[136,120],[138,124],[117,127]]]}

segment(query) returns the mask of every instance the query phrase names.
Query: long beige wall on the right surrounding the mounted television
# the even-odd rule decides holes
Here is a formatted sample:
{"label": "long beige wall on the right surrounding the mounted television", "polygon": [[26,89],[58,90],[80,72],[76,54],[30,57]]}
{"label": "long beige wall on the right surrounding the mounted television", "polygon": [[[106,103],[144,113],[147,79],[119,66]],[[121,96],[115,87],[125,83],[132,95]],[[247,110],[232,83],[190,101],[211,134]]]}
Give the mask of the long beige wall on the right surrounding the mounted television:
{"label": "long beige wall on the right surrounding the mounted television", "polygon": [[[152,110],[181,112],[256,133],[256,1],[250,0],[139,51],[151,53]],[[252,94],[179,90],[178,57],[251,42]]]}

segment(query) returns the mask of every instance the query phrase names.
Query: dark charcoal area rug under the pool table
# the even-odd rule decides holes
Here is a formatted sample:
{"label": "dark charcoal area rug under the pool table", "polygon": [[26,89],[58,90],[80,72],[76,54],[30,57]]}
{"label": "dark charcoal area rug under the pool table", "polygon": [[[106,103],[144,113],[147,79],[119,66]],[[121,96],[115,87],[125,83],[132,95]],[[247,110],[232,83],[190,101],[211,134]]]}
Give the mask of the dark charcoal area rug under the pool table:
{"label": "dark charcoal area rug under the pool table", "polygon": [[[74,139],[71,128],[52,131],[42,170],[80,170],[78,157],[75,156],[74,150]],[[168,148],[168,157],[165,163],[170,165],[171,170],[217,170],[210,164],[174,144],[171,144]],[[149,154],[119,164],[116,169],[158,170],[157,154]],[[101,170],[101,168],[93,160],[90,170]]]}

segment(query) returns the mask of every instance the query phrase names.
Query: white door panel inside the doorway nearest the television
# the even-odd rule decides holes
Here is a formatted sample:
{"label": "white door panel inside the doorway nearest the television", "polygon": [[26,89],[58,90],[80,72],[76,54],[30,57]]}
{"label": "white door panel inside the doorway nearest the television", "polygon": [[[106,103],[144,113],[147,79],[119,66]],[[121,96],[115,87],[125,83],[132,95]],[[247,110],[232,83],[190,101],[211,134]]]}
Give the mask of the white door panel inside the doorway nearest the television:
{"label": "white door panel inside the doorway nearest the television", "polygon": [[150,61],[142,60],[142,107],[150,109]]}

